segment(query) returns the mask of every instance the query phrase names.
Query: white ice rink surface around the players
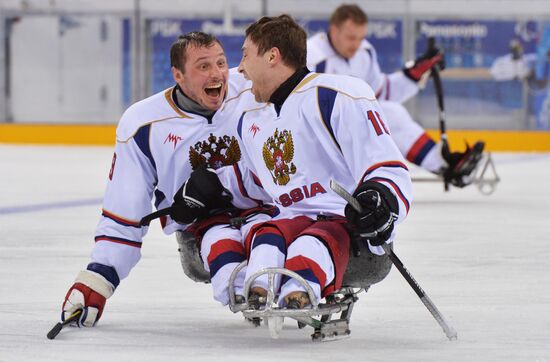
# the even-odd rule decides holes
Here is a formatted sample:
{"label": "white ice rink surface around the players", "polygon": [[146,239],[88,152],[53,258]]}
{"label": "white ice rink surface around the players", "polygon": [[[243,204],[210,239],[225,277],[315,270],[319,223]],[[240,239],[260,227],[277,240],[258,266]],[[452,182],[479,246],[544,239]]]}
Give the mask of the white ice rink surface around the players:
{"label": "white ice rink surface around the players", "polygon": [[[360,294],[349,339],[279,339],[188,279],[152,224],[96,328],[46,333],[88,263],[109,147],[0,146],[0,361],[550,361],[550,154],[496,154],[496,192],[414,185],[396,254],[458,331],[450,342],[402,276]],[[416,174],[416,173],[415,173]]]}

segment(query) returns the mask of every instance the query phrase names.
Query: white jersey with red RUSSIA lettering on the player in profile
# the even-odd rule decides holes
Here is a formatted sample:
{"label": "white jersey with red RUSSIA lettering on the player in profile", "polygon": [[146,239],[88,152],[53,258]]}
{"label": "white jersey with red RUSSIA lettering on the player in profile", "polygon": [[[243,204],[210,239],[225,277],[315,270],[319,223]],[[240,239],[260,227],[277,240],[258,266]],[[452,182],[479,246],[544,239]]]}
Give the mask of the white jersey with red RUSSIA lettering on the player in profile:
{"label": "white jersey with red RUSSIA lettering on the player in profile", "polygon": [[346,201],[330,189],[330,180],[350,192],[372,180],[396,196],[397,222],[409,210],[408,169],[372,89],[362,80],[309,73],[280,113],[271,103],[244,112],[238,134],[246,151],[239,162],[240,174],[236,168],[218,169],[237,202],[251,192],[246,185],[255,184],[285,217],[342,216]]}

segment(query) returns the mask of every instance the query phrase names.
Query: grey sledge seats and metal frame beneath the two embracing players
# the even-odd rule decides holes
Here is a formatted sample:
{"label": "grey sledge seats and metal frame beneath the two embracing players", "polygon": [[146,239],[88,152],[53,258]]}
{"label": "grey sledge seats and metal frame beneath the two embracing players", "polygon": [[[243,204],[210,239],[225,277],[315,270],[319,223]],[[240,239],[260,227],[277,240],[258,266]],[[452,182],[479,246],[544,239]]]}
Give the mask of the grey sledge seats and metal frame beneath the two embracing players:
{"label": "grey sledge seats and metal frame beneath the two embracing players", "polygon": [[[184,273],[195,282],[209,283],[210,275],[204,270],[200,252],[193,235],[182,231],[176,232],[178,242],[178,251]],[[264,268],[252,276],[250,282],[245,285],[244,293],[248,296],[252,281],[261,275],[268,275],[270,291],[268,292],[268,303],[266,308],[254,310],[249,307],[248,299],[245,303],[236,303],[235,298],[235,280],[237,274],[247,265],[244,261],[235,268],[229,281],[229,308],[233,313],[242,312],[243,316],[259,325],[261,321],[267,322],[271,336],[278,337],[278,332],[282,328],[282,319],[284,317],[292,318],[298,321],[299,328],[306,325],[314,329],[311,335],[313,341],[336,340],[349,336],[349,322],[353,311],[354,303],[359,299],[358,294],[366,291],[372,284],[383,280],[390,271],[391,261],[387,256],[371,254],[366,244],[358,246],[357,255],[354,256],[350,251],[350,262],[344,274],[344,287],[327,296],[324,302],[317,303],[315,294],[310,285],[300,275],[284,268]],[[358,257],[359,252],[361,256]],[[277,304],[277,293],[274,290],[274,278],[277,274],[287,275],[296,279],[308,296],[314,307],[304,309],[280,308]],[[336,316],[340,313],[339,316]]]}

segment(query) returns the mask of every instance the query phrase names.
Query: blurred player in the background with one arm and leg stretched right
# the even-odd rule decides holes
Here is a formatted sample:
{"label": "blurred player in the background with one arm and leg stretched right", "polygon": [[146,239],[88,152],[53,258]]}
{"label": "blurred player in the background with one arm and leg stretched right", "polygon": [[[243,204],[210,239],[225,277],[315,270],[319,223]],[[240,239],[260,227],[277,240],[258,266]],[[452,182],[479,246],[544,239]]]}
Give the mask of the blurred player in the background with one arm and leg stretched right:
{"label": "blurred player in the background with one arm and leg stretched right", "polygon": [[464,152],[449,152],[436,144],[401,104],[418,92],[424,74],[436,65],[443,69],[443,54],[431,49],[403,70],[384,74],[376,50],[365,39],[367,24],[367,14],[359,6],[339,6],[330,17],[328,32],[307,41],[309,69],[366,81],[374,89],[392,137],[408,161],[443,176],[446,183],[457,187],[470,184],[470,174],[481,159],[484,143],[476,142]]}

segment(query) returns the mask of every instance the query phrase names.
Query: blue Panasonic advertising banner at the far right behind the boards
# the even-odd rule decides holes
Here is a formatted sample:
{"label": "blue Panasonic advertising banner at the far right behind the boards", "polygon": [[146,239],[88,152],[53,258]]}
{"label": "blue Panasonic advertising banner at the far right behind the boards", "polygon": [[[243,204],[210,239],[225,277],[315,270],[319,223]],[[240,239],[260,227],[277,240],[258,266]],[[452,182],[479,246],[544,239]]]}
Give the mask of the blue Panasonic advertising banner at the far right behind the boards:
{"label": "blue Panasonic advertising banner at the far right behind the boards", "polygon": [[[537,75],[548,63],[544,29],[528,20],[418,20],[415,49],[422,54],[433,37],[444,50],[447,113],[472,120],[460,126],[548,129],[548,77]],[[428,84],[417,100],[420,118],[433,111],[433,97]]]}

